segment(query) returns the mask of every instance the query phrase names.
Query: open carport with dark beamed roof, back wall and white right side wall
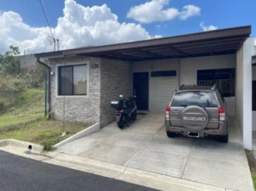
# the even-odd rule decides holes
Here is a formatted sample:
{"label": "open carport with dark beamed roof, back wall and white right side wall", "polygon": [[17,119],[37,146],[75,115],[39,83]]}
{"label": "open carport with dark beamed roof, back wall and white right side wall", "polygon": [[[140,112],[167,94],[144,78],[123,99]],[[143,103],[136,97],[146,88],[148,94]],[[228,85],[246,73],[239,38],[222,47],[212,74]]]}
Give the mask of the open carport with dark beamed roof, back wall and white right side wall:
{"label": "open carport with dark beamed roof, back wall and white right side wall", "polygon": [[[140,42],[64,50],[62,55],[85,55],[132,64],[133,93],[138,109],[163,113],[173,91],[182,84],[219,82],[228,113],[236,116],[244,147],[252,149],[251,26]],[[53,52],[53,55],[56,54]]]}

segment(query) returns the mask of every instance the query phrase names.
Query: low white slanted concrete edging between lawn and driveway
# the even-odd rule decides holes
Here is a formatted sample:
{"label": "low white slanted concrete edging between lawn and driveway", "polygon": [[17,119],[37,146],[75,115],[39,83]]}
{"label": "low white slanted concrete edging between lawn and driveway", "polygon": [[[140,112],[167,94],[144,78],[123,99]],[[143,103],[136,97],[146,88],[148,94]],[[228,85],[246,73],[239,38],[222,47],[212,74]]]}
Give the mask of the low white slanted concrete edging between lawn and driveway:
{"label": "low white slanted concrete edging between lawn and driveway", "polygon": [[54,145],[53,147],[61,147],[64,144],[67,144],[71,141],[75,141],[75,139],[80,139],[83,136],[88,136],[91,133],[95,133],[99,130],[99,122],[95,123],[94,125],[91,125],[89,128],[86,128],[79,133],[76,133],[73,136],[70,136],[68,139],[65,139],[64,141],[59,142],[58,144]]}

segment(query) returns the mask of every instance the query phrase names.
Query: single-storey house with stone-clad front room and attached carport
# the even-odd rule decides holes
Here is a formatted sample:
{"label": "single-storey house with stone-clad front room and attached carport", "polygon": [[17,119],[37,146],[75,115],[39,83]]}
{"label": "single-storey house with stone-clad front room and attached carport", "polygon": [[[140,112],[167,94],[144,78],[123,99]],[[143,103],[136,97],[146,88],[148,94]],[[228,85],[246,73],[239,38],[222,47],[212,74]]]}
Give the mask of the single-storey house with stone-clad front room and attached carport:
{"label": "single-storey house with stone-clad front room and attached carport", "polygon": [[255,39],[250,34],[251,26],[243,26],[35,57],[51,74],[49,104],[56,118],[100,122],[102,127],[115,119],[110,101],[119,94],[136,93],[138,109],[165,113],[179,85],[218,82],[227,112],[236,115],[244,147],[252,149],[252,75],[256,78],[256,71],[252,74]]}

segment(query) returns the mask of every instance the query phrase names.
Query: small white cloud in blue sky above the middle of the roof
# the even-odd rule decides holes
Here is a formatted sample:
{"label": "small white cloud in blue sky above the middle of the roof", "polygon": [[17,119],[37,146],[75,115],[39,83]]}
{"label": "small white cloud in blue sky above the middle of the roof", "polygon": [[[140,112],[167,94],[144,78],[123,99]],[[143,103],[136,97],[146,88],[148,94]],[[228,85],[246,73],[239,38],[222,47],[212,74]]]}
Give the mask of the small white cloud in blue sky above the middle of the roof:
{"label": "small white cloud in blue sky above the middle of the roof", "polygon": [[187,5],[179,12],[175,7],[164,9],[170,0],[152,0],[145,4],[131,7],[127,13],[127,17],[137,20],[140,23],[154,23],[157,21],[173,20],[179,17],[185,20],[194,15],[200,15],[200,8],[195,5]]}

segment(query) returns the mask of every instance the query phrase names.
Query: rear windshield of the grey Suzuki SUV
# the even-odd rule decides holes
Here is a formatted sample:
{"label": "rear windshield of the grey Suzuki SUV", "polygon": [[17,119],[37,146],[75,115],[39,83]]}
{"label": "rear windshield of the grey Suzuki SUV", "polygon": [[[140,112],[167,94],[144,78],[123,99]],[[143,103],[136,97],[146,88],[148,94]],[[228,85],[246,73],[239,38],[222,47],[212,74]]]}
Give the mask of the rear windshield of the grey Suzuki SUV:
{"label": "rear windshield of the grey Suzuki SUV", "polygon": [[171,106],[218,107],[214,93],[200,91],[177,92]]}

